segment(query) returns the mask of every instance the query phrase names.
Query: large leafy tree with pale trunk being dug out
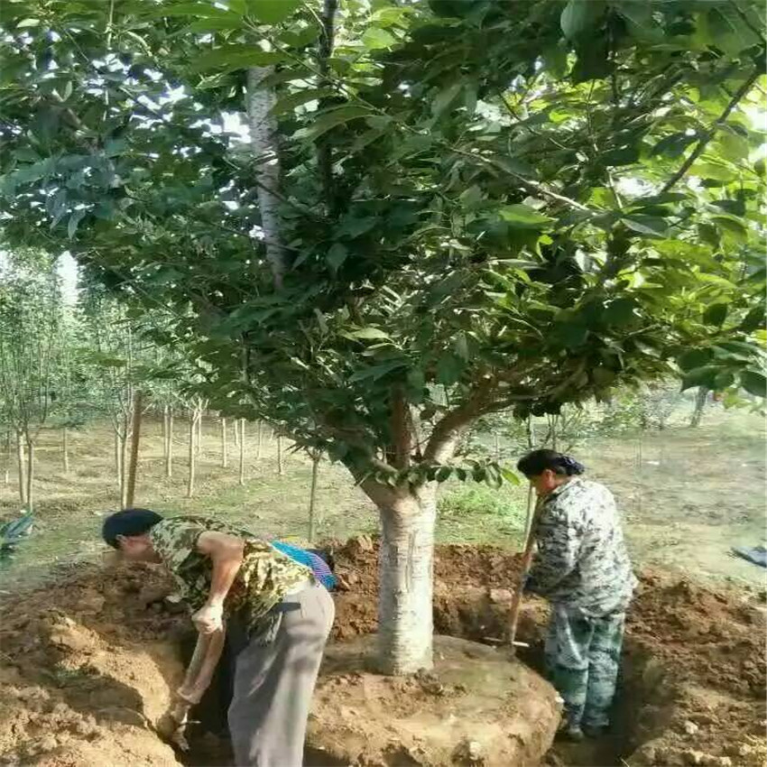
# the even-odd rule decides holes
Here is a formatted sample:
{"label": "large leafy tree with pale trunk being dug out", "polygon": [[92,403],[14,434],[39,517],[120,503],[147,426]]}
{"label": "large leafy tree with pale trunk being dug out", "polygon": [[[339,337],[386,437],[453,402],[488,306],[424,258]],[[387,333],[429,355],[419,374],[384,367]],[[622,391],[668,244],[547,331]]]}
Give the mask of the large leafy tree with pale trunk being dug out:
{"label": "large leafy tree with pale trunk being dug out", "polygon": [[348,467],[385,670],[430,665],[437,485],[501,481],[453,460],[477,418],[679,373],[763,395],[758,4],[107,11],[0,11],[7,236],[68,242],[168,313],[211,407]]}

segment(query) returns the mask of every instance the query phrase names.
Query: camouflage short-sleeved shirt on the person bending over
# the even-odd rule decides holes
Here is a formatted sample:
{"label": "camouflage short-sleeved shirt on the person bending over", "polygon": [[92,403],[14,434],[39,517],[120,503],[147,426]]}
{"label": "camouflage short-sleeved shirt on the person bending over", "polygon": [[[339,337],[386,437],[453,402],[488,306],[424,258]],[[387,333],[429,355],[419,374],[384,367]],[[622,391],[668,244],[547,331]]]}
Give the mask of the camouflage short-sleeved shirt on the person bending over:
{"label": "camouflage short-sleeved shirt on the person bending over", "polygon": [[193,611],[208,600],[213,574],[210,558],[197,550],[199,535],[206,531],[226,532],[245,541],[243,563],[226,596],[224,613],[225,617],[238,615],[249,632],[261,628],[264,616],[283,596],[301,583],[314,580],[310,568],[251,532],[207,517],[169,517],[152,527],[150,539]]}

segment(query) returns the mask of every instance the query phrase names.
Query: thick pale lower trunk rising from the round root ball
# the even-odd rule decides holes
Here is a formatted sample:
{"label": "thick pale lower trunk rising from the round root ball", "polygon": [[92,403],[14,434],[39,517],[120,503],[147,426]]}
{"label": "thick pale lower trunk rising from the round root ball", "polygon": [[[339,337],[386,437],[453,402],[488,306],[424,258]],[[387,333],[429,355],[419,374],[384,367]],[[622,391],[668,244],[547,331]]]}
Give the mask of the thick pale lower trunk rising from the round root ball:
{"label": "thick pale lower trunk rising from the round root ball", "polygon": [[421,488],[420,496],[401,489],[379,511],[379,665],[387,674],[411,674],[432,665],[436,488]]}

